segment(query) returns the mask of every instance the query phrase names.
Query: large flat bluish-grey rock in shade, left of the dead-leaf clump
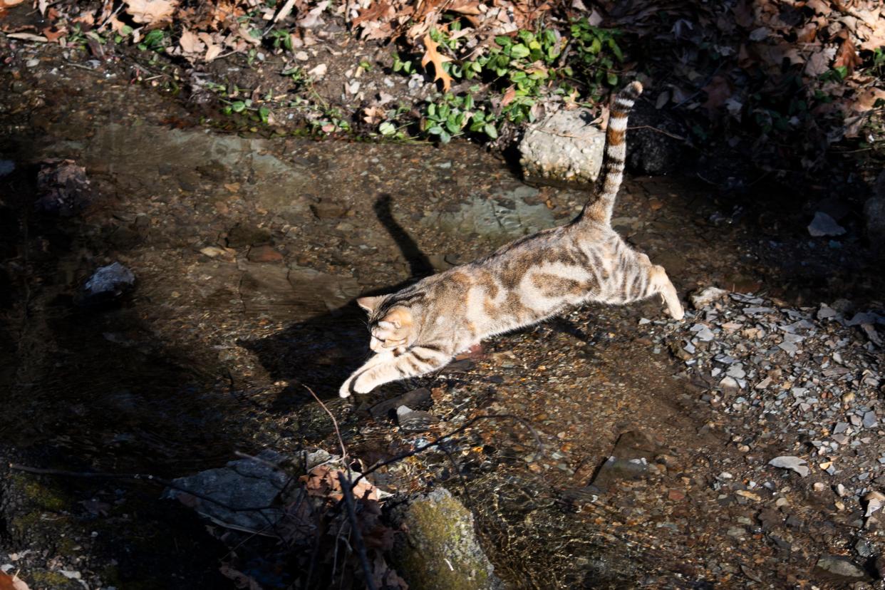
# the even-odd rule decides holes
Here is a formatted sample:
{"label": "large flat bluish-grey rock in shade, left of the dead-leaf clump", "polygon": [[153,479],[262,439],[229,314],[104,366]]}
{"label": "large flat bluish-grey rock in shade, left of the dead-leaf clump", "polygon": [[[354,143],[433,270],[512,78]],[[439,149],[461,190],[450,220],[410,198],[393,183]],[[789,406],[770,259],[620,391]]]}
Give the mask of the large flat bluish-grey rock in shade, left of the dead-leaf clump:
{"label": "large flat bluish-grey rock in shade, left of the dead-leaf clump", "polygon": [[[276,451],[265,449],[258,458],[267,463],[238,459],[219,469],[173,479],[181,489],[167,488],[163,497],[179,500],[221,525],[263,531],[282,517],[282,510],[271,508],[271,505],[286,487],[289,475],[270,465],[281,464],[285,459]],[[188,492],[201,494],[215,502]]]}

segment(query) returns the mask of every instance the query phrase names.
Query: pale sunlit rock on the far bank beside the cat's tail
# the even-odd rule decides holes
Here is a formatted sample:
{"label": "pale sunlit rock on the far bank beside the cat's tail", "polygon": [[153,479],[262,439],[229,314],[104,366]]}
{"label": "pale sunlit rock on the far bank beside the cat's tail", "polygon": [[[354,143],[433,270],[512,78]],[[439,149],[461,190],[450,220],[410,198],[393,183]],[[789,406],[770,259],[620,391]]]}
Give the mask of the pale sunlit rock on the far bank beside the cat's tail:
{"label": "pale sunlit rock on the far bank beside the cat's tail", "polygon": [[519,142],[527,180],[589,184],[602,165],[605,134],[589,111],[560,110],[529,126]]}

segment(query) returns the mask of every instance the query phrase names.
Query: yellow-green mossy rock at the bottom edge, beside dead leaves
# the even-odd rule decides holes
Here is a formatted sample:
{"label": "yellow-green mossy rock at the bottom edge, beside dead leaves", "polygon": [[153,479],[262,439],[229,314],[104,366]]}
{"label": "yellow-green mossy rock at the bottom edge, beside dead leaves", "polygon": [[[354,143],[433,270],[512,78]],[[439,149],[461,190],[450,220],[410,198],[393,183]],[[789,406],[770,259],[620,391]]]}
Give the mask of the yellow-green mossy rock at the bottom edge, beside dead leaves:
{"label": "yellow-green mossy rock at the bottom edge, beside dead leaves", "polygon": [[412,590],[503,587],[476,538],[473,514],[448,490],[421,494],[391,517],[406,531],[394,547],[394,566]]}

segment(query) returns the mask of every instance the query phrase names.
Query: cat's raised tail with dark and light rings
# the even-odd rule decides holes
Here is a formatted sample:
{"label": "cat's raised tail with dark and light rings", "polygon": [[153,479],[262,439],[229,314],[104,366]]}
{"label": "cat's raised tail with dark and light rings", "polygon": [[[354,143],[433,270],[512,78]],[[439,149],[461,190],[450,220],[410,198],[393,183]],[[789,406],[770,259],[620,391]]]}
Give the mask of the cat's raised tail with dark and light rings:
{"label": "cat's raised tail with dark and light rings", "polygon": [[624,180],[624,161],[627,159],[624,135],[627,132],[627,118],[641,94],[643,85],[630,82],[612,101],[608,128],[605,130],[605,155],[596,184],[596,198],[584,205],[579,219],[586,217],[605,224],[612,221],[614,200],[618,196],[620,182]]}

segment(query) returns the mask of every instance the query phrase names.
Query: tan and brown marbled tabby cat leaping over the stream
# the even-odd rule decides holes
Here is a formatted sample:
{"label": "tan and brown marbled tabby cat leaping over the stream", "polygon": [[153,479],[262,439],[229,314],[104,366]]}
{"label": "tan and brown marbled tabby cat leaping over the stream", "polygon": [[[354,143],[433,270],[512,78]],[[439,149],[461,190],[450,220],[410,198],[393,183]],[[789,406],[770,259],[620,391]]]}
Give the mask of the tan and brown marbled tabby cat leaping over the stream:
{"label": "tan and brown marbled tabby cat leaping over the stream", "polygon": [[632,82],[612,102],[596,198],[571,223],[519,238],[397,293],[357,300],[369,314],[375,354],[342,384],[342,397],[441,369],[483,338],[585,302],[631,303],[659,294],[673,318],[683,317],[664,267],[627,246],[611,226],[624,177],[627,116],[642,91]]}

